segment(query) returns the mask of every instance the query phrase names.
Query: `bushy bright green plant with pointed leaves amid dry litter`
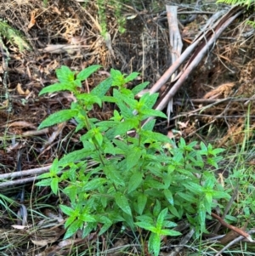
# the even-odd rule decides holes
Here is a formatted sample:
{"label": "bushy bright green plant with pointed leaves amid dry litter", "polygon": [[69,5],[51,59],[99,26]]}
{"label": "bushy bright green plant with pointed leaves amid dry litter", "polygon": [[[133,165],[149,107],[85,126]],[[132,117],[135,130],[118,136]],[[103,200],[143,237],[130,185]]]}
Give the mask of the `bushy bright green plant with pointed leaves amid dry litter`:
{"label": "bushy bright green plant with pointed leaves amid dry litter", "polygon": [[[111,77],[90,94],[82,93],[82,81],[99,67],[92,65],[76,76],[62,66],[56,72],[59,83],[42,89],[40,95],[68,90],[75,100],[70,110],[52,114],[39,128],[74,118],[76,130],[87,132],[80,138],[83,148],[56,159],[48,174],[39,176],[37,185],[51,186],[54,194],[69,197],[70,204],[60,206],[68,216],[65,238],[79,229],[87,236],[98,225],[103,234],[122,222],[132,230],[150,231],[150,252],[158,255],[161,236],[180,235],[172,229],[176,220],[189,219],[199,236],[206,231],[207,214],[216,206],[215,200],[229,198],[208,169],[218,167],[223,150],[203,143],[195,150],[197,143],[186,144],[184,139],[175,145],[153,131],[154,121],[143,127],[148,117],[167,117],[153,109],[157,94],[135,99],[148,83],[126,88],[138,73],[124,76],[112,69]],[[105,96],[111,87],[113,95]],[[113,117],[102,122],[89,118],[88,111],[104,102],[116,105]],[[130,130],[135,136],[128,135]]]}

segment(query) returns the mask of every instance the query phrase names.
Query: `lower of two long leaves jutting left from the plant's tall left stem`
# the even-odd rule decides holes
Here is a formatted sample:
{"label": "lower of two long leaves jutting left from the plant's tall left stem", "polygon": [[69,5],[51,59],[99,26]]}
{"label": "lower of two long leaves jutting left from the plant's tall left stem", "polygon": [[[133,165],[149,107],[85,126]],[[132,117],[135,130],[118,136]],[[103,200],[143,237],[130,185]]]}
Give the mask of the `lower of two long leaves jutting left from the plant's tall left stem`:
{"label": "lower of two long leaves jutting left from the plant's tall left stem", "polygon": [[58,111],[49,117],[47,117],[45,120],[41,122],[38,129],[42,129],[51,125],[54,125],[56,123],[65,122],[67,120],[70,120],[72,117],[77,116],[77,110],[63,110]]}

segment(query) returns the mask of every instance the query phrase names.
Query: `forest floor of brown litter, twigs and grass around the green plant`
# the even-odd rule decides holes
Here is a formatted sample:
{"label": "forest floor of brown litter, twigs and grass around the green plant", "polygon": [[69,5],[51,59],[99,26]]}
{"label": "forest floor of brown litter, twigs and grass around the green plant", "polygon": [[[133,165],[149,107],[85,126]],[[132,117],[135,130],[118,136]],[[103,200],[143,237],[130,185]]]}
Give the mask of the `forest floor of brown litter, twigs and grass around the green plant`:
{"label": "forest floor of brown litter, twigs and grass around the green plant", "polygon": [[[0,3],[0,22],[6,21],[23,35],[7,40],[6,35],[1,36],[0,29],[0,175],[42,167],[47,170],[54,158],[81,147],[71,122],[64,127],[37,131],[49,114],[67,109],[71,104],[64,93],[38,96],[42,88],[57,82],[55,71],[61,65],[77,72],[89,65],[103,66],[88,78],[83,88],[87,92],[104,80],[111,68],[126,74],[138,71],[136,82],[148,81],[150,88],[171,65],[167,22],[158,22],[164,15],[163,2],[123,5],[124,33],[118,31],[114,9],[107,5],[107,31],[111,38],[106,40],[101,35],[94,2],[84,8],[83,3],[75,0]],[[179,9],[190,10],[185,5],[179,5]],[[207,3],[203,9],[213,12],[217,6]],[[181,26],[184,48],[192,43],[210,15],[199,14],[194,21]],[[183,137],[186,141],[210,142],[226,149],[218,170],[221,182],[235,174],[243,184],[234,198],[236,206],[229,213],[236,217],[232,225],[240,228],[248,225],[252,229],[255,221],[252,202],[248,199],[254,194],[251,177],[255,111],[253,101],[247,99],[255,95],[255,33],[253,29],[249,34],[252,27],[243,20],[235,20],[192,71],[173,99],[170,122],[157,120],[156,130],[175,140]],[[233,100],[234,97],[239,101]],[[107,120],[112,111],[110,107],[92,111],[91,116]],[[77,234],[72,240],[63,241],[64,217],[59,213],[59,198],[48,188],[36,187],[34,176],[32,172],[27,180],[22,176],[18,179],[0,176],[1,255],[142,255],[135,234],[121,230],[120,226],[101,237],[94,233],[84,239]],[[28,228],[22,228],[18,217],[19,194],[24,187]],[[215,223],[211,221],[208,225]],[[219,233],[226,233],[226,229]],[[162,255],[214,255],[213,250],[217,250],[214,248],[218,248],[205,241],[194,241],[182,253],[171,254],[169,242],[163,242]],[[171,244],[178,242],[171,240]],[[236,243],[232,251],[222,255],[245,252],[255,255],[253,247],[252,242]],[[204,253],[198,253],[201,248]],[[149,255],[145,249],[143,253]]]}

